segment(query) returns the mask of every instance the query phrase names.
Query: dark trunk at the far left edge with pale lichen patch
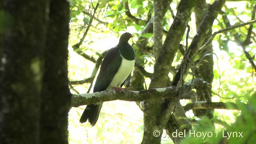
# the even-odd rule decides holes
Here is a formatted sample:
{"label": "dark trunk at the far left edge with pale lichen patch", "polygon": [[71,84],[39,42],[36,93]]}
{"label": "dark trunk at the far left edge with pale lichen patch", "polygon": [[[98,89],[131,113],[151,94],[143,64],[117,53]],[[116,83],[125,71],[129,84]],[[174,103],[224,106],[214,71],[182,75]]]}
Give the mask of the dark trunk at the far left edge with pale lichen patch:
{"label": "dark trunk at the far left edge with pale lichen patch", "polygon": [[0,142],[38,144],[46,1],[5,0],[4,4]]}

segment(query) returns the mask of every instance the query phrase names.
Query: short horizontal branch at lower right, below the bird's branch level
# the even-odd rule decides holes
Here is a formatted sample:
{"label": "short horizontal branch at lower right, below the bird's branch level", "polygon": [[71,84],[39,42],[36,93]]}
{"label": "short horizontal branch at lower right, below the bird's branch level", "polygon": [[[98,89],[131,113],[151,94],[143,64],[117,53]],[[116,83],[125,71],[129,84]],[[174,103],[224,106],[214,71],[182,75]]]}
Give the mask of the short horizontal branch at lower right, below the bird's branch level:
{"label": "short horizontal branch at lower right, below the bird's branch level", "polygon": [[198,101],[188,103],[184,106],[184,110],[194,110],[194,109],[227,109],[227,110],[240,110],[238,106],[233,102],[207,102],[207,101]]}

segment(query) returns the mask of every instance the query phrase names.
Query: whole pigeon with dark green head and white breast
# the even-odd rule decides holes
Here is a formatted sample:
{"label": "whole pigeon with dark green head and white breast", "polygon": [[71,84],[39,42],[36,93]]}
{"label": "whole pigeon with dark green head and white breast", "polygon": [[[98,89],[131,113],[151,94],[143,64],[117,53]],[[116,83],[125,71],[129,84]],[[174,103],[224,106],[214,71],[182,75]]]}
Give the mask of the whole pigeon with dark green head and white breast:
{"label": "whole pigeon with dark green head and white breast", "polygon": [[[124,85],[124,81],[132,72],[135,64],[134,50],[128,43],[131,37],[133,35],[128,32],[122,34],[118,45],[108,50],[102,61],[93,92],[111,88],[120,92],[120,88]],[[87,105],[80,122],[84,123],[88,119],[91,126],[94,126],[98,120],[102,104]]]}

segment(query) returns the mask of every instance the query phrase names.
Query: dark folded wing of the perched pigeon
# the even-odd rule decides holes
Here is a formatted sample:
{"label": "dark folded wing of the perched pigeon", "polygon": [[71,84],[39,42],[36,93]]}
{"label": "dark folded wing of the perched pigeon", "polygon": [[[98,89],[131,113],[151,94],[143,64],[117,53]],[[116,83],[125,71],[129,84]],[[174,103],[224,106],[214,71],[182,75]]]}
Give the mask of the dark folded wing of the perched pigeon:
{"label": "dark folded wing of the perched pigeon", "polygon": [[108,88],[108,85],[118,71],[121,62],[122,57],[118,47],[108,50],[100,66],[100,72],[94,85],[93,92],[100,92]]}

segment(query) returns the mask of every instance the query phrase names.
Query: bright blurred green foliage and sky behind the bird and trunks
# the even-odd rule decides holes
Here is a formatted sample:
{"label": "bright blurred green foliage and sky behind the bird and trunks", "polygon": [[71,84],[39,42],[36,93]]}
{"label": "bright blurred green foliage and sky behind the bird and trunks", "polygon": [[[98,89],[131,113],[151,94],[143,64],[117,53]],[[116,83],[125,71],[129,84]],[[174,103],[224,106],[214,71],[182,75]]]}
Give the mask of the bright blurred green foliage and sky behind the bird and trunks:
{"label": "bright blurred green foliage and sky behind the bird and trunks", "polygon": [[[208,4],[212,4],[213,1],[206,0]],[[129,43],[136,51],[137,62],[147,72],[153,72],[155,63],[152,48],[153,34],[141,34],[153,16],[153,0],[70,0],[70,3],[68,61],[70,81],[89,78],[93,73],[96,60],[102,56],[105,50],[116,46],[120,35],[124,32],[130,32],[134,35]],[[178,4],[179,0],[173,0],[164,16],[163,40],[173,22]],[[222,13],[214,21],[212,31],[216,32],[231,25],[250,21],[253,16],[255,18],[255,11],[252,12],[254,9],[255,0],[227,1],[222,8]],[[188,43],[190,44],[196,35],[194,13],[192,13],[188,24],[190,26]],[[234,102],[239,107],[240,103],[247,104],[248,99],[256,91],[255,70],[235,37],[238,36],[241,41],[245,41],[248,29],[249,25],[229,30],[218,34],[212,42],[214,59],[212,102]],[[256,30],[253,28],[248,44],[245,46],[245,50],[254,61],[256,54],[255,32]],[[146,49],[142,50],[135,45],[139,36],[149,38]],[[186,45],[185,38],[186,34],[180,42],[183,46]],[[182,57],[182,51],[177,51],[172,63],[172,72],[176,72]],[[200,63],[197,66],[199,65]],[[174,74],[172,72],[169,74],[171,80]],[[191,78],[192,72],[190,71],[185,81]],[[150,78],[144,77],[144,82],[144,88],[146,89],[150,84]],[[92,92],[93,85],[93,81],[73,84],[70,85],[70,90],[74,94]],[[188,102],[190,101],[181,100],[182,105],[186,105]],[[88,122],[84,124],[79,122],[80,115],[85,107],[71,108],[69,112],[70,144],[138,144],[142,141],[143,112],[135,102],[120,100],[104,102],[99,120],[94,127],[91,127]],[[243,106],[240,106],[240,108],[242,110]],[[214,110],[214,118],[209,119],[206,116],[195,117],[192,110],[186,112],[186,115],[193,122],[192,129],[214,133],[228,128],[240,114],[241,111],[238,110],[216,109]],[[245,113],[245,115],[250,116],[250,113]],[[248,122],[244,124],[254,122],[255,125],[255,119],[247,118],[247,120]],[[214,125],[211,125],[211,122],[214,122]],[[249,125],[244,126],[245,129],[249,127]],[[190,143],[200,143],[202,138],[188,139],[188,141]],[[188,141],[185,139],[185,143]],[[207,139],[202,142],[214,143],[214,141],[213,139]],[[172,143],[172,140],[168,137],[162,138],[161,143],[169,144]]]}

